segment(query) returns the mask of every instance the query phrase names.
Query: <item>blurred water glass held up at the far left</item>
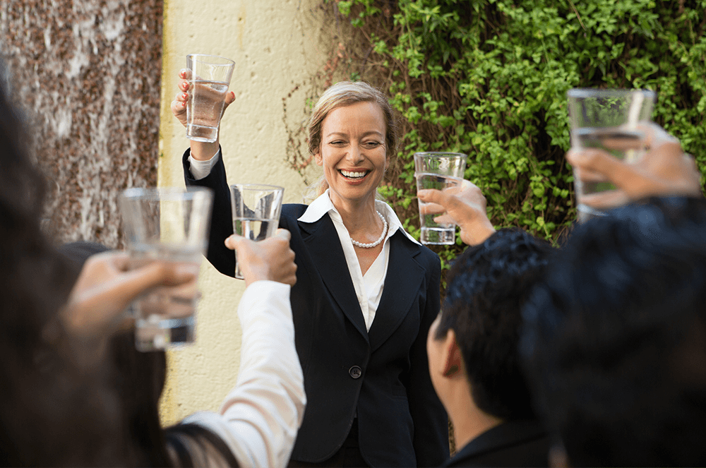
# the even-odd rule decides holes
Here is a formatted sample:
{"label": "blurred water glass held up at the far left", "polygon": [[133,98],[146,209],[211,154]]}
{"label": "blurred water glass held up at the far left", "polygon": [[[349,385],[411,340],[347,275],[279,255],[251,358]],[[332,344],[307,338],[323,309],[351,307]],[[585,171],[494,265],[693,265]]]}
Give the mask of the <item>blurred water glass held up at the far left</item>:
{"label": "blurred water glass held up at the far left", "polygon": [[[129,268],[154,261],[177,264],[198,278],[208,245],[213,192],[208,188],[128,188],[120,197]],[[155,287],[132,305],[139,351],[180,347],[196,340],[196,281]]]}

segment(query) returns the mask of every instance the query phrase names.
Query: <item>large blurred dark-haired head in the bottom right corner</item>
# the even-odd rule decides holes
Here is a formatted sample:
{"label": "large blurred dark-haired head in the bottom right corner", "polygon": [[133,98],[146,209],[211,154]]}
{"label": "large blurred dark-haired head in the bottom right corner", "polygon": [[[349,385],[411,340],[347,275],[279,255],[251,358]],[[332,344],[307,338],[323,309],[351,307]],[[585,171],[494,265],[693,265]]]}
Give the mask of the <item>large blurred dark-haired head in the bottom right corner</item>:
{"label": "large blurred dark-haired head in the bottom right corner", "polygon": [[524,311],[522,355],[575,466],[706,462],[706,201],[581,225]]}

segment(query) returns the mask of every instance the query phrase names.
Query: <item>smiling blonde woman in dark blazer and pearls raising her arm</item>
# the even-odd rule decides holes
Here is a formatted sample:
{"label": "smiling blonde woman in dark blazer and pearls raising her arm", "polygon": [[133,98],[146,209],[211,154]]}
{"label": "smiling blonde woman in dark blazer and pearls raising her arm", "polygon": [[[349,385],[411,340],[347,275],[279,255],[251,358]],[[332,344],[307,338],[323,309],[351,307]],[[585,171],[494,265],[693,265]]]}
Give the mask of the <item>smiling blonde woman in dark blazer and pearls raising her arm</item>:
{"label": "smiling blonde woman in dark blazer and pearls raising her arm", "polygon": [[[180,120],[185,99],[180,92],[172,103]],[[297,256],[290,300],[307,398],[289,466],[438,466],[448,458],[447,417],[426,356],[440,306],[440,261],[375,198],[396,150],[382,92],[362,82],[324,92],[309,122],[309,151],[325,184],[311,205],[283,205],[280,217]],[[232,276],[234,256],[223,246],[232,217],[217,142],[192,141],[184,175],[186,184],[220,196],[208,260]]]}

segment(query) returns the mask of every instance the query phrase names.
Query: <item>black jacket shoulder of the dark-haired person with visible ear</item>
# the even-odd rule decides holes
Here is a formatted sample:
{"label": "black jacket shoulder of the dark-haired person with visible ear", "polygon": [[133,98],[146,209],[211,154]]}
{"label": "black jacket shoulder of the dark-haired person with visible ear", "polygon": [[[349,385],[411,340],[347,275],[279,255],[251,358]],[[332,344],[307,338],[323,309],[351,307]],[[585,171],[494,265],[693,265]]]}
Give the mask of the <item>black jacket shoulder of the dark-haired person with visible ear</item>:
{"label": "black jacket shoulder of the dark-haired person with visible ear", "polygon": [[508,421],[480,434],[444,467],[548,467],[549,436],[537,421]]}

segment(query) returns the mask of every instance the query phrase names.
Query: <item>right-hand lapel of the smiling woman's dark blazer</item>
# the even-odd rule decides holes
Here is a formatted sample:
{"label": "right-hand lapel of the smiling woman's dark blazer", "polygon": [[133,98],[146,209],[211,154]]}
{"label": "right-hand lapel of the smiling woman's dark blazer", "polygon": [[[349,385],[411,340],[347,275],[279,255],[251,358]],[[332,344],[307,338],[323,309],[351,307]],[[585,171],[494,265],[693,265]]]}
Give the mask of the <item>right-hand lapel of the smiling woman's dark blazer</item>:
{"label": "right-hand lapel of the smiling woman's dark blazer", "polygon": [[390,260],[385,275],[383,296],[368,332],[370,347],[375,351],[393,334],[404,320],[424,280],[425,270],[414,259],[420,247],[396,232],[390,238]]}

